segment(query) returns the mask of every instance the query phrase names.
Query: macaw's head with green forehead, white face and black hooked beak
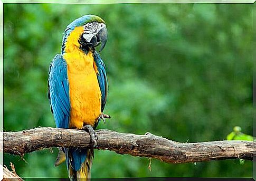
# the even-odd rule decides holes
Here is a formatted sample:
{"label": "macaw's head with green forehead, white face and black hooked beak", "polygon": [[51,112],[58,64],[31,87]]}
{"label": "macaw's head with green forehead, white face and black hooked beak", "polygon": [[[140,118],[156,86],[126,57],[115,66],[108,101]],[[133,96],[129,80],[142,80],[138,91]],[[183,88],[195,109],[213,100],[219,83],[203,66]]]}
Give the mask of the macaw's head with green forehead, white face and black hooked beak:
{"label": "macaw's head with green forehead, white face and black hooked beak", "polygon": [[62,51],[65,51],[67,44],[78,46],[87,52],[100,46],[101,51],[107,42],[108,31],[105,21],[96,15],[84,15],[68,25],[64,32]]}

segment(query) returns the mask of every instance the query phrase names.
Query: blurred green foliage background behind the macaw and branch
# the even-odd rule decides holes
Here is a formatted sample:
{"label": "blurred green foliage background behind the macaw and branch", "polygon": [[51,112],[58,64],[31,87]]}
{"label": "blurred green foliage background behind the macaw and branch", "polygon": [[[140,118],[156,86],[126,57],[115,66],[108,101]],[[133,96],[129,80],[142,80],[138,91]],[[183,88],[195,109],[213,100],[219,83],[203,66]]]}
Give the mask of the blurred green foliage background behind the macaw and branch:
{"label": "blurred green foliage background behind the macaw and branch", "polygon": [[[99,129],[181,142],[224,140],[236,125],[252,135],[252,5],[4,4],[4,130],[55,127],[48,67],[65,27],[84,14],[106,22],[101,52],[112,116]],[[252,162],[166,164],[95,151],[93,178],[252,177]],[[57,150],[5,154],[22,177],[67,177]],[[9,167],[10,168],[10,167]]]}

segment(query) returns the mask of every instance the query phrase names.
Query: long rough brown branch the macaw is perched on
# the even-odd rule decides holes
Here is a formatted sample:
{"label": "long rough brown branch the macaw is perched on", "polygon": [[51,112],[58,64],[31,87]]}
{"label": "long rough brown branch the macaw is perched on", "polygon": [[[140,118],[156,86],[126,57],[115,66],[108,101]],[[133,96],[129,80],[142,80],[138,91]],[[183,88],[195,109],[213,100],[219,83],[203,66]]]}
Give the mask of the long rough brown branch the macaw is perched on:
{"label": "long rough brown branch the macaw is perched on", "polygon": [[[155,136],[125,134],[97,130],[96,149],[108,149],[118,154],[156,158],[166,163],[189,163],[221,159],[252,160],[256,153],[253,141],[208,141],[180,143]],[[84,130],[35,128],[18,132],[4,132],[4,152],[23,156],[50,147],[93,148]],[[2,139],[1,139],[2,140]]]}

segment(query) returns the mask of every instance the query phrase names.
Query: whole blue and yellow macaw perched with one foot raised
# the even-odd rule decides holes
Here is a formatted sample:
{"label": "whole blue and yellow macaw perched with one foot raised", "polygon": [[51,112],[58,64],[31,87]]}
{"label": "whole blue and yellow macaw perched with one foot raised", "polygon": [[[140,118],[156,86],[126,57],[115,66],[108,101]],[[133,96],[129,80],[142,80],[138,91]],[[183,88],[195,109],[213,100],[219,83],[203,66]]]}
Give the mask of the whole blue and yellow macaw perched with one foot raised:
{"label": "whole blue and yellow macaw perched with one foot raised", "polygon": [[[89,131],[97,144],[94,129],[103,114],[108,82],[105,64],[99,52],[107,42],[106,23],[99,16],[85,15],[74,20],[64,31],[61,54],[50,64],[48,97],[57,128]],[[61,148],[55,166],[66,162],[71,180],[90,178],[93,149]]]}

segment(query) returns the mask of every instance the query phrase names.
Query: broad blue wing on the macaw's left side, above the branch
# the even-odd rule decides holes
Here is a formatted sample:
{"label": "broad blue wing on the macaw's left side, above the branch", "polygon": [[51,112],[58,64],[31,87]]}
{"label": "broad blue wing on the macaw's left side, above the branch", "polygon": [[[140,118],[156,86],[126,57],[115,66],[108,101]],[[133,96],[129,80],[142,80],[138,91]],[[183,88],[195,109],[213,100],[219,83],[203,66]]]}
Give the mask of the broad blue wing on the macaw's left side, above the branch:
{"label": "broad blue wing on the macaw's left side, above the branch", "polygon": [[70,98],[67,62],[57,54],[50,64],[48,98],[57,128],[69,128]]}

